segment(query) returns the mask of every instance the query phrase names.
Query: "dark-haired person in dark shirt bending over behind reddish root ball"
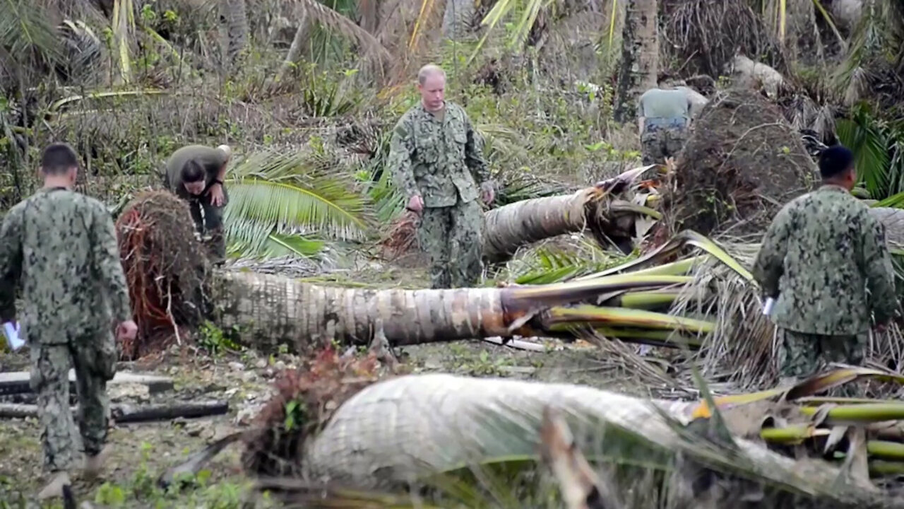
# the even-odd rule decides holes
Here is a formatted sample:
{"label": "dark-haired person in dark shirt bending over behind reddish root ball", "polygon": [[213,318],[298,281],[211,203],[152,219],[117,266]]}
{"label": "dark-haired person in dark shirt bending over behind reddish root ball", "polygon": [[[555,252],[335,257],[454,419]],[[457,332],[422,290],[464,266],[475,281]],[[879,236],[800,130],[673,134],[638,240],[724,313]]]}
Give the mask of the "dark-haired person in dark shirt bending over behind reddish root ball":
{"label": "dark-haired person in dark shirt bending over behind reddish root ball", "polygon": [[[188,201],[194,227],[200,235],[210,235],[214,263],[226,257],[226,241],[222,233],[223,207],[229,200],[223,179],[232,150],[228,145],[216,149],[188,145],[173,152],[166,161],[165,186]],[[201,211],[204,211],[203,217]]]}

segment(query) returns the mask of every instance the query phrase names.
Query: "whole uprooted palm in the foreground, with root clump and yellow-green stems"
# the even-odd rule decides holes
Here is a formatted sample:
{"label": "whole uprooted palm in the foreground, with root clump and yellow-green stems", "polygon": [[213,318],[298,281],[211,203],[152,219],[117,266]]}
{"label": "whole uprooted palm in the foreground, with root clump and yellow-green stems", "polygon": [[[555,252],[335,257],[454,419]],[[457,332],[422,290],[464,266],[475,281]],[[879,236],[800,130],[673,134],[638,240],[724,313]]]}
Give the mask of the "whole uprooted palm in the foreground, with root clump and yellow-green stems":
{"label": "whole uprooted palm in the foreground, with root clump and yellow-green stems", "polygon": [[572,431],[569,447],[602,467],[607,489],[596,507],[904,506],[871,483],[900,471],[904,405],[815,396],[863,378],[904,381],[840,369],[754,394],[712,398],[700,384],[700,402],[644,400],[447,374],[380,381],[372,357],[327,350],[279,379],[257,426],[191,456],[160,482],[199,471],[242,440],[244,468],[262,477],[259,488],[305,506],[414,506],[410,487],[428,488],[419,490],[418,506],[544,506],[553,494],[536,466],[555,410]]}

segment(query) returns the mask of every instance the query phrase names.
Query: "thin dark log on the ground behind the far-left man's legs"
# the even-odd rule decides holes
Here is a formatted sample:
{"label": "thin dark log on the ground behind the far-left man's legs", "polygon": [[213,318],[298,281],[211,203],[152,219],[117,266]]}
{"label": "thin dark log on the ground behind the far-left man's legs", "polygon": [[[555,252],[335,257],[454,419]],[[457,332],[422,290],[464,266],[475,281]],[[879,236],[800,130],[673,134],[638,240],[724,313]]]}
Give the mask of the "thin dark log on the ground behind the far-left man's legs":
{"label": "thin dark log on the ground behind the far-left man's legs", "polygon": [[[74,414],[77,407],[72,407]],[[219,416],[229,412],[229,402],[211,401],[175,401],[173,403],[154,403],[131,405],[114,403],[110,405],[110,417],[117,423],[148,422],[155,420],[171,420],[174,418],[202,418]],[[0,403],[0,418],[36,418],[37,405],[20,403]]]}

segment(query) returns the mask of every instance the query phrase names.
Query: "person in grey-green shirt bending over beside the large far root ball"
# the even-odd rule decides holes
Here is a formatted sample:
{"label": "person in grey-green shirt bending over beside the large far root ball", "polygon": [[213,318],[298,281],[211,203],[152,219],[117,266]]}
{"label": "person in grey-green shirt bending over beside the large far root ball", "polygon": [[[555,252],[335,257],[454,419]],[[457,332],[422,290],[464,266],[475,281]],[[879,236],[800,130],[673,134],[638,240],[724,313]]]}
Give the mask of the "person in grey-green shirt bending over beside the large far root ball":
{"label": "person in grey-green shirt bending over beside the large far root ball", "polygon": [[644,92],[637,100],[637,127],[643,162],[664,164],[681,152],[688,138],[692,98],[686,88],[662,86]]}

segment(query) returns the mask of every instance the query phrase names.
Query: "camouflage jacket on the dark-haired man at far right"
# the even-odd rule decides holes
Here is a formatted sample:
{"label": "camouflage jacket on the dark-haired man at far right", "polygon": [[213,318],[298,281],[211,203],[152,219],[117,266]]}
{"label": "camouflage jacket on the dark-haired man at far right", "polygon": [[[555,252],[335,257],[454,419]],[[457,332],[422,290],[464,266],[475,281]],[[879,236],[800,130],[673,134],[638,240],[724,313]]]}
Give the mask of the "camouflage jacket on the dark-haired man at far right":
{"label": "camouflage jacket on the dark-haired man at far right", "polygon": [[885,226],[842,187],[823,186],[778,212],[753,269],[778,296],[779,327],[810,334],[869,331],[898,308]]}

